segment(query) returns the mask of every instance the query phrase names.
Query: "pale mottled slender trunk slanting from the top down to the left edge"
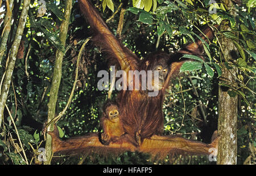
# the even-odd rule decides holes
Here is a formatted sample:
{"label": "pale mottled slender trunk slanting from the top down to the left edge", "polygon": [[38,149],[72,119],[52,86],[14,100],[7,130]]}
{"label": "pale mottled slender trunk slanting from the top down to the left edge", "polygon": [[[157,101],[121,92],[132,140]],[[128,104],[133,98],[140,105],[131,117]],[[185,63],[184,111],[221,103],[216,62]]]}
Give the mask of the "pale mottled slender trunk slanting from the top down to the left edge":
{"label": "pale mottled slender trunk slanting from the top down to the left edge", "polygon": [[27,21],[27,13],[28,9],[30,9],[30,0],[23,1],[22,12],[19,18],[19,25],[16,31],[15,39],[13,45],[11,46],[10,57],[8,61],[8,65],[6,68],[5,74],[3,74],[3,84],[1,88],[1,95],[0,95],[0,127],[3,120],[3,110],[5,109],[5,103],[7,99],[7,95],[9,93],[9,87],[11,83],[11,76],[13,75],[13,69],[16,61],[16,56],[19,49],[20,40],[22,39],[22,33],[24,31],[24,27]]}

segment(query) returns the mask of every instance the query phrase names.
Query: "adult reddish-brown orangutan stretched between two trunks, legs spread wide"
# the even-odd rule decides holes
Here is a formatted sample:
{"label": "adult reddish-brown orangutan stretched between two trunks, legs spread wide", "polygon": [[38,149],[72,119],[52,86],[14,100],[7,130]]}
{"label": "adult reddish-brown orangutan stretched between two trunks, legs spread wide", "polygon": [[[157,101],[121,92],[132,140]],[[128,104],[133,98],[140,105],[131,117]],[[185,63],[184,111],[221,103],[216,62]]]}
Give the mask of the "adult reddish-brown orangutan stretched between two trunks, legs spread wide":
{"label": "adult reddish-brown orangutan stretched between two trunks, legs spread wide", "polygon": [[[129,70],[156,70],[159,73],[159,82],[152,81],[152,86],[159,91],[157,96],[150,97],[150,90],[121,90],[117,96],[117,103],[121,125],[126,137],[103,145],[98,133],[90,133],[87,136],[72,137],[61,141],[57,129],[49,132],[52,136],[52,151],[85,151],[89,152],[123,152],[125,150],[146,152],[165,156],[168,153],[181,152],[192,154],[209,154],[210,148],[216,148],[218,137],[211,144],[199,141],[187,140],[176,136],[163,136],[163,100],[164,93],[175,72],[179,72],[180,66],[185,61],[181,58],[184,54],[201,56],[203,45],[200,40],[186,45],[175,55],[167,53],[153,53],[144,60],[139,61],[129,49],[125,48],[119,40],[110,32],[104,20],[92,4],[87,0],[79,0],[79,6],[84,17],[93,29],[93,41],[109,55],[109,59],[117,60],[121,69],[129,76]],[[213,31],[208,27],[204,31],[208,39],[213,38]],[[204,35],[201,37],[207,41]],[[180,59],[181,58],[181,59]],[[149,76],[149,75],[147,75]],[[154,79],[156,79],[154,77]],[[126,79],[131,81],[130,79]],[[129,85],[129,81],[125,86]],[[132,80],[134,81],[134,79]],[[137,141],[137,143],[133,143]]]}

